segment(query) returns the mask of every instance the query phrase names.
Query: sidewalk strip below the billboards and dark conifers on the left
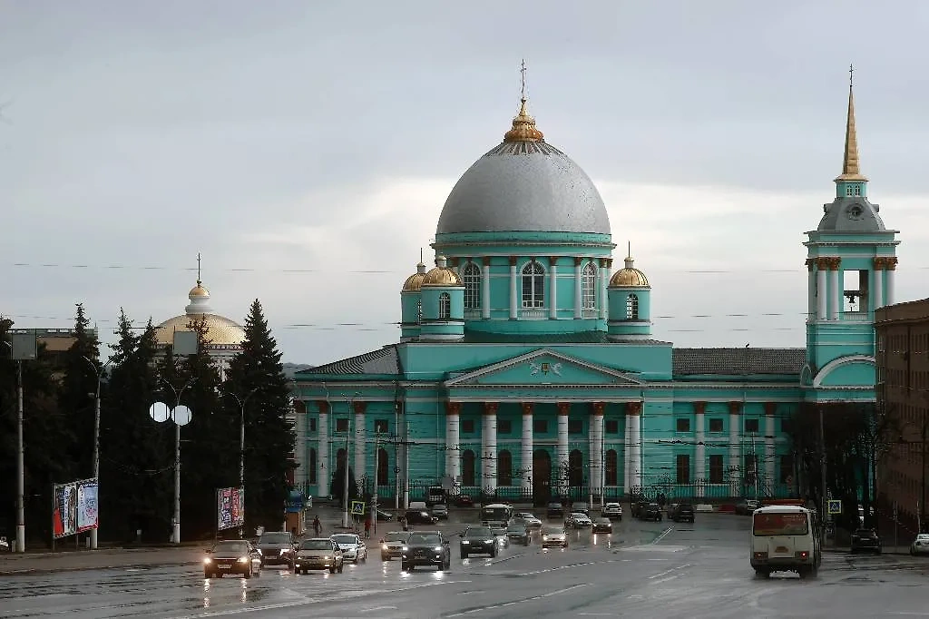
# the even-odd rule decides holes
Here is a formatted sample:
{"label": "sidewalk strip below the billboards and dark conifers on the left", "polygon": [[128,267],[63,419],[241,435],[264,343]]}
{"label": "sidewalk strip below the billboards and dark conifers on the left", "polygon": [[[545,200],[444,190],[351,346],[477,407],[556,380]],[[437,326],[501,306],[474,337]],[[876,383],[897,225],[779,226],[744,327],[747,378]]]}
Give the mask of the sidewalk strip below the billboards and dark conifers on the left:
{"label": "sidewalk strip below the billboards and dark conifers on the left", "polygon": [[0,554],[0,575],[106,570],[194,564],[206,545],[169,548],[104,548],[66,552]]}

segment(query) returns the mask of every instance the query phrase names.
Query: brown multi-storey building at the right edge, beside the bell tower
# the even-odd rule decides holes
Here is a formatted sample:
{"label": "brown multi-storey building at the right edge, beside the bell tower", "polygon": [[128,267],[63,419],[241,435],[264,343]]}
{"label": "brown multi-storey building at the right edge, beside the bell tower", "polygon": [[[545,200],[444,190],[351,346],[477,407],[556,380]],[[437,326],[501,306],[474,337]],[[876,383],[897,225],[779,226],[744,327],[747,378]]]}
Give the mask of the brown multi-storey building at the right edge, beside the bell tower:
{"label": "brown multi-storey building at the right edge, beside the bell tower", "polygon": [[929,475],[929,299],[881,308],[877,331],[877,397],[886,412],[885,450],[878,467],[883,513],[909,533],[925,530]]}

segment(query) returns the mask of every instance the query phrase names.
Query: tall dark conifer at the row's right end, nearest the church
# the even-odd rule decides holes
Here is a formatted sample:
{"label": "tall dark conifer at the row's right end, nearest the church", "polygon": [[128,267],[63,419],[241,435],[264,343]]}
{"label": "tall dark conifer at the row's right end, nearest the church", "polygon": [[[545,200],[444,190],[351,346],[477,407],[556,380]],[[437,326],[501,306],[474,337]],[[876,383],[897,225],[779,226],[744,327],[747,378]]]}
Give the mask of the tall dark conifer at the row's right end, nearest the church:
{"label": "tall dark conifer at the row's right end, nearest the church", "polygon": [[283,518],[287,474],[293,468],[294,429],[287,418],[290,390],[281,351],[258,299],[244,326],[242,351],[229,362],[225,402],[236,420],[244,404],[246,526],[275,526]]}

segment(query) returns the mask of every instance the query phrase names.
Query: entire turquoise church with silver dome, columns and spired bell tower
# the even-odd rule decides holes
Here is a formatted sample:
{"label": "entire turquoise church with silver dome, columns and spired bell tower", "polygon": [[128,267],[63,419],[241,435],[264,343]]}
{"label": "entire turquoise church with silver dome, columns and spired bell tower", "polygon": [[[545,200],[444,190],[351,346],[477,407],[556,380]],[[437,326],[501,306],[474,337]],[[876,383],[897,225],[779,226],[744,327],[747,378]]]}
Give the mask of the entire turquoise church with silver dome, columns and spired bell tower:
{"label": "entire turquoise church with silver dome, columns and spired bell tower", "polygon": [[873,402],[873,312],[893,299],[896,232],[858,171],[851,91],[845,142],[807,232],[806,347],[680,349],[652,336],[647,275],[631,251],[614,270],[594,183],[522,99],[452,188],[435,267],[403,283],[399,343],[296,375],[298,481],[330,494],[347,460],[401,501],[434,483],[537,503],[791,495],[786,420]]}

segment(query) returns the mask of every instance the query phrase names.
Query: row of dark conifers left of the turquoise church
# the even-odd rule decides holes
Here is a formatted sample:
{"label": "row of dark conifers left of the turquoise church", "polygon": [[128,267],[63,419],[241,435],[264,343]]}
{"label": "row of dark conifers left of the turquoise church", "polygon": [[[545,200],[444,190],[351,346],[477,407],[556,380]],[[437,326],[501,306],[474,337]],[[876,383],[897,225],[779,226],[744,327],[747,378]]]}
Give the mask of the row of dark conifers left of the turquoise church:
{"label": "row of dark conifers left of the turquoise church", "polygon": [[[294,430],[287,418],[290,389],[281,352],[261,304],[245,319],[242,350],[221,375],[208,354],[208,325],[193,320],[196,354],[179,357],[161,347],[155,326],[138,328],[120,312],[116,342],[99,345],[84,307],[77,305],[74,341],[58,363],[40,344],[35,361],[23,362],[23,444],[26,534],[50,542],[52,485],[93,476],[94,416],[98,376],[99,539],[125,542],[137,532],[165,542],[174,515],[175,426],[149,415],[153,402],[192,412],[181,428],[181,534],[211,537],[216,528],[216,489],[239,485],[240,429],[245,427],[246,531],[276,530],[284,520],[294,467]],[[17,362],[9,348],[11,320],[0,318],[0,535],[15,537],[17,475]]]}

